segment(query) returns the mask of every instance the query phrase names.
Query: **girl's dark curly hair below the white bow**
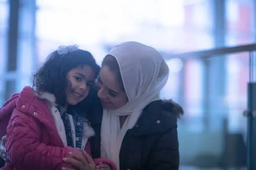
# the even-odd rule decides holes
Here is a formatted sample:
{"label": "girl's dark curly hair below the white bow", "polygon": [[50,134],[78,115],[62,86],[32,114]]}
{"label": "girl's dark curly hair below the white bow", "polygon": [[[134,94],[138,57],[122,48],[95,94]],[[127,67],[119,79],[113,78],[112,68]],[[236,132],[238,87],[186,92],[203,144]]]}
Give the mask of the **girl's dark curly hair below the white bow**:
{"label": "girl's dark curly hair below the white bow", "polygon": [[90,52],[79,49],[66,55],[59,55],[57,51],[54,51],[33,75],[33,89],[38,94],[41,92],[54,94],[56,103],[63,106],[66,102],[68,87],[67,73],[83,65],[89,65],[95,70],[96,79],[100,72],[100,66],[97,65]]}

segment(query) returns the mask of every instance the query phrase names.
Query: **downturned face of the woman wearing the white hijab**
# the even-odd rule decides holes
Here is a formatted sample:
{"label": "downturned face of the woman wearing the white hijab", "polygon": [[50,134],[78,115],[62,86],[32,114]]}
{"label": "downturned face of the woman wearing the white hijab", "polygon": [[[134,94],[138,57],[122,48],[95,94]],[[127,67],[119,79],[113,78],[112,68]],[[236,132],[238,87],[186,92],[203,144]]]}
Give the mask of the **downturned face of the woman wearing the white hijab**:
{"label": "downturned face of the woman wearing the white hijab", "polygon": [[98,97],[103,108],[115,110],[128,102],[125,91],[120,88],[120,83],[116,80],[115,74],[109,70],[108,66],[101,68],[98,86]]}

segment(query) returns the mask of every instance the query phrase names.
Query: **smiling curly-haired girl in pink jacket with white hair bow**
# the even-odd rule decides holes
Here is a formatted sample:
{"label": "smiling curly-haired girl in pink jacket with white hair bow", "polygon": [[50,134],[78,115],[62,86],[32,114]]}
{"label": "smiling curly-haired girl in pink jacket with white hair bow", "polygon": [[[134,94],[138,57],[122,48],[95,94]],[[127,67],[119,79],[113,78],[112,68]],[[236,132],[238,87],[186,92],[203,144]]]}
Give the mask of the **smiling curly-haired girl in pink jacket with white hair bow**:
{"label": "smiling curly-haired girl in pink jacket with white hair bow", "polygon": [[75,155],[87,158],[80,163],[87,170],[95,170],[95,164],[115,169],[111,161],[92,161],[88,155],[88,138],[95,132],[75,107],[89,94],[99,70],[92,54],[77,45],[61,46],[48,56],[33,76],[33,88],[24,87],[0,108],[0,137],[7,133],[10,160],[3,170],[74,168],[63,160]]}

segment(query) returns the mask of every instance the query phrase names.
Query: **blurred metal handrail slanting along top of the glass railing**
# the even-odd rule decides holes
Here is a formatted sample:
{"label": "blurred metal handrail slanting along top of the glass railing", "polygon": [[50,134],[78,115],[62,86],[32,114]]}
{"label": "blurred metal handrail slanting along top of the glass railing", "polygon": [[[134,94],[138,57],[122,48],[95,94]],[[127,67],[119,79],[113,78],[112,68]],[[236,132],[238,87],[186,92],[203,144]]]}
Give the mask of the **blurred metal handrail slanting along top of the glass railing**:
{"label": "blurred metal handrail slanting along top of the glass railing", "polygon": [[249,44],[249,45],[241,45],[235,47],[222,47],[222,48],[215,48],[213,50],[202,50],[202,51],[195,51],[195,52],[185,52],[179,54],[172,54],[169,56],[165,56],[165,60],[169,60],[171,58],[180,58],[180,59],[209,59],[212,57],[216,57],[218,55],[227,55],[237,52],[247,52],[247,51],[256,51],[256,44]]}

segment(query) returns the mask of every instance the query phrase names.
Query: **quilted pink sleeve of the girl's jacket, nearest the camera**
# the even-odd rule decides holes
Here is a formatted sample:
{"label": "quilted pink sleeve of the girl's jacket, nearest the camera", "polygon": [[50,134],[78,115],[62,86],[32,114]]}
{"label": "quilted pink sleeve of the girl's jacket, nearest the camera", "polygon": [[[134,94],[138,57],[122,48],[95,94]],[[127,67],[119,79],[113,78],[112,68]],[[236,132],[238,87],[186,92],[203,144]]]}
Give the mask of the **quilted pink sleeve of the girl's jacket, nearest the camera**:
{"label": "quilted pink sleeve of the girl's jacket, nearest the camera", "polygon": [[[16,113],[15,113],[16,112]],[[7,128],[6,149],[17,170],[61,170],[72,168],[63,158],[76,150],[71,147],[54,147],[41,143],[41,124],[30,115],[13,111]]]}

